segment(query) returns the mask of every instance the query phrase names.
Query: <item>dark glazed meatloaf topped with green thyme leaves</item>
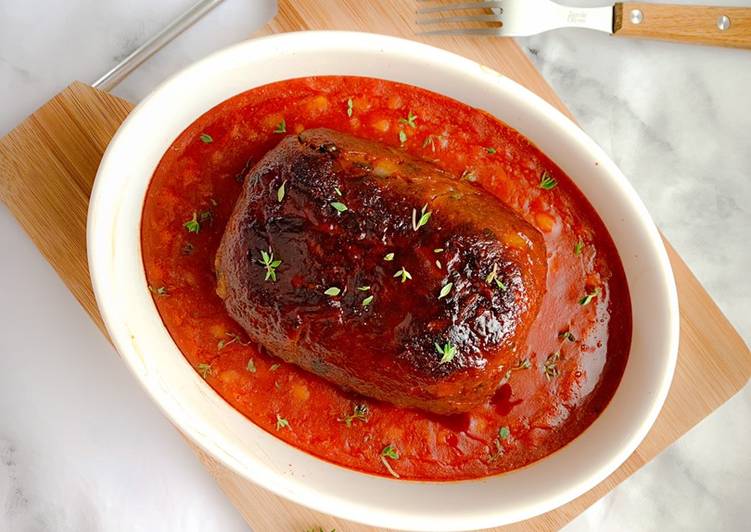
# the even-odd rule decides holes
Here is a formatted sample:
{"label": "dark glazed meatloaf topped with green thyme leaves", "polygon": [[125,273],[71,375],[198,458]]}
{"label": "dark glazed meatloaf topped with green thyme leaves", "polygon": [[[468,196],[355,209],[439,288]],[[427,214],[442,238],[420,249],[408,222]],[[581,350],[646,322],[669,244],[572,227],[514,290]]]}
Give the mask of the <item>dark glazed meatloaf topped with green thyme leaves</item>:
{"label": "dark glazed meatloaf topped with green thyme leaves", "polygon": [[365,396],[439,414],[493,394],[546,282],[540,233],[473,183],[328,129],[244,177],[217,293],[270,353]]}

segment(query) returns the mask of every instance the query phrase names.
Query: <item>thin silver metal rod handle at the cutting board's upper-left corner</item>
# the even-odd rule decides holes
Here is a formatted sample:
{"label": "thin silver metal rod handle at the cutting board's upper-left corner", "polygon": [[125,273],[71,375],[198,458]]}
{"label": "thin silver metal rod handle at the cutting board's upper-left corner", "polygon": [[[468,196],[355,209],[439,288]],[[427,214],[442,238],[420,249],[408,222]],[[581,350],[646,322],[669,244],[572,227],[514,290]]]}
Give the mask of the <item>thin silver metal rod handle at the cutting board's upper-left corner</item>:
{"label": "thin silver metal rod handle at the cutting board's upper-left corner", "polygon": [[161,50],[165,44],[169,43],[172,39],[191,27],[221,2],[222,0],[200,0],[177,19],[172,21],[166,28],[136,48],[130,55],[128,55],[128,57],[120,61],[109,72],[92,83],[92,87],[103,91],[113,89],[134,69],[138,68],[138,66],[149,57]]}

